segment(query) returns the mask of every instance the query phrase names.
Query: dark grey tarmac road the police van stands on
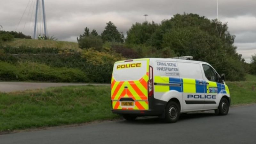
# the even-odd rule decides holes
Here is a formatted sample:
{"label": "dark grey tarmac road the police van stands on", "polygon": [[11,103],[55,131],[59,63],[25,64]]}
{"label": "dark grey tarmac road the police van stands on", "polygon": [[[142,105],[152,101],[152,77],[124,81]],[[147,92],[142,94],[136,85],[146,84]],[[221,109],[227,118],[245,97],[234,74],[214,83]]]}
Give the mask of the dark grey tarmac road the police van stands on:
{"label": "dark grey tarmac road the police van stands on", "polygon": [[227,116],[184,114],[174,124],[157,118],[105,121],[0,135],[1,144],[255,144],[256,105],[230,108]]}

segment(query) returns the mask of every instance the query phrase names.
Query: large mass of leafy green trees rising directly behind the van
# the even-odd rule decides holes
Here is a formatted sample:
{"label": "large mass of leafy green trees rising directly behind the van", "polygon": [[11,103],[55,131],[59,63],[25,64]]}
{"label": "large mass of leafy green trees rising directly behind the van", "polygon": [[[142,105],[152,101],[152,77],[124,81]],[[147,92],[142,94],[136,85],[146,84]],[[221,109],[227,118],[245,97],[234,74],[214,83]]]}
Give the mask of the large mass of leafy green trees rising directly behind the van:
{"label": "large mass of leafy green trees rising directly behind the van", "polygon": [[225,73],[228,80],[244,80],[243,59],[236,52],[234,40],[227,23],[184,13],[163,20],[159,25],[135,23],[127,32],[125,42],[139,45],[144,52],[150,50],[141,45],[152,50],[156,48],[157,52],[151,52],[154,57],[159,53],[162,57],[190,55],[194,60],[210,63],[219,73]]}

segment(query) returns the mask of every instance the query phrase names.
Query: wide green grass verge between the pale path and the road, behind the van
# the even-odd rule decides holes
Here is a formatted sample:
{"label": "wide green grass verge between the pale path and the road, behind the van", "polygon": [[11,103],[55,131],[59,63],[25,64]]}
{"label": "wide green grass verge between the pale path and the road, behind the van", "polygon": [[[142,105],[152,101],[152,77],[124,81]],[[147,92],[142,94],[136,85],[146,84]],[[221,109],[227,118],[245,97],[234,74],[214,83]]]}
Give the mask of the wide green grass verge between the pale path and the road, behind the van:
{"label": "wide green grass verge between the pale path and the road, behind the van", "polygon": [[117,118],[110,108],[110,86],[0,93],[0,131]]}

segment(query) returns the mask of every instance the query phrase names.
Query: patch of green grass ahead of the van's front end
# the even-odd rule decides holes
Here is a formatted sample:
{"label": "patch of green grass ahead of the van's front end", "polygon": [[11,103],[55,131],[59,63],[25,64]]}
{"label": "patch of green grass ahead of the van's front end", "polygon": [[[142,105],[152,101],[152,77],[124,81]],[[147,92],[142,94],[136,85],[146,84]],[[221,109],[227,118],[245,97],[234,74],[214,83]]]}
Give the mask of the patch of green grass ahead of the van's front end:
{"label": "patch of green grass ahead of the van's front end", "polygon": [[231,105],[256,103],[256,81],[227,82]]}

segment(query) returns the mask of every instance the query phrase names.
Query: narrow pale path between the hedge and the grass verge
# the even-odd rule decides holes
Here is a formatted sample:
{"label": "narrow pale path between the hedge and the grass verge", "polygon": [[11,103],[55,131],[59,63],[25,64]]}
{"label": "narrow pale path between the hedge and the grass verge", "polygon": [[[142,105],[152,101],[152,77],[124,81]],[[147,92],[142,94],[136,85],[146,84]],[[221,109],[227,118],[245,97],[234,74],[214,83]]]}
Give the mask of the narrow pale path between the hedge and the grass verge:
{"label": "narrow pale path between the hedge and the grass verge", "polygon": [[[69,85],[88,85],[88,84],[0,82],[0,92],[24,91],[28,89],[43,89],[47,87],[69,86]],[[110,85],[110,84],[92,84],[92,85]]]}

